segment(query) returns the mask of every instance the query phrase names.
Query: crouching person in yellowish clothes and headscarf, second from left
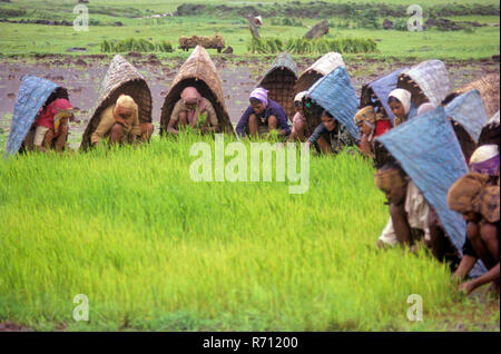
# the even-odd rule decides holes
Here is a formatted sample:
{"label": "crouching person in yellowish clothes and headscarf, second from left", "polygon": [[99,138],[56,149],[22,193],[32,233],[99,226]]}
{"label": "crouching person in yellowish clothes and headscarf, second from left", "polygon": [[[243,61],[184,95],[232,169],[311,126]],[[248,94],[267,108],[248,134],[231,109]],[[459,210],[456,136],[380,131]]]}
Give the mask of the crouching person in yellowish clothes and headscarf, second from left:
{"label": "crouching person in yellowish clothes and headscarf, second from left", "polygon": [[138,107],[134,98],[120,95],[115,105],[106,108],[101,114],[101,120],[94,131],[90,140],[92,146],[99,145],[105,138],[109,144],[126,144],[147,141],[153,135],[154,126],[150,122],[139,122]]}

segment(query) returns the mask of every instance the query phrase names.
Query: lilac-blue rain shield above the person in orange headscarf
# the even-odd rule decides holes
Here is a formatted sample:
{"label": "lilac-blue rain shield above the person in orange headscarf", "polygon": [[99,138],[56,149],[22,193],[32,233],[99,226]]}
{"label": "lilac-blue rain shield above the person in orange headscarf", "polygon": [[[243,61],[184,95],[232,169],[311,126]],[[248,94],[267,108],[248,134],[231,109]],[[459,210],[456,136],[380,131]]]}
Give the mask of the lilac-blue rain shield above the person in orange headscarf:
{"label": "lilac-blue rain shield above the person in orange headscarf", "polygon": [[362,95],[360,97],[360,107],[363,108],[365,106],[372,106],[371,98],[373,97],[376,102],[380,102],[381,106],[386,111],[387,117],[393,124],[393,119],[395,116],[387,105],[387,98],[391,91],[396,88],[396,82],[399,81],[399,75],[409,68],[402,68],[393,71],[386,76],[380,77],[371,82],[362,86]]}

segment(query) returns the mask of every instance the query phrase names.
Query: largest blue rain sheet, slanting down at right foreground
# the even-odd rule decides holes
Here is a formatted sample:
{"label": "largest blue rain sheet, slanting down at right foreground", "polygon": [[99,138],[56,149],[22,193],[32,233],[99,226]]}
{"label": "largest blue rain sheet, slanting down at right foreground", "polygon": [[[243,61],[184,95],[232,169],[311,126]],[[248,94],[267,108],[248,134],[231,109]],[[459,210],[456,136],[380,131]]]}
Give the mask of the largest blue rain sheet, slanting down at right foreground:
{"label": "largest blue rain sheet, slanting down at right foreground", "polygon": [[446,119],[445,109],[415,117],[377,138],[436,210],[455,248],[462,254],[466,225],[462,215],[449,209],[449,188],[468,174],[461,146]]}

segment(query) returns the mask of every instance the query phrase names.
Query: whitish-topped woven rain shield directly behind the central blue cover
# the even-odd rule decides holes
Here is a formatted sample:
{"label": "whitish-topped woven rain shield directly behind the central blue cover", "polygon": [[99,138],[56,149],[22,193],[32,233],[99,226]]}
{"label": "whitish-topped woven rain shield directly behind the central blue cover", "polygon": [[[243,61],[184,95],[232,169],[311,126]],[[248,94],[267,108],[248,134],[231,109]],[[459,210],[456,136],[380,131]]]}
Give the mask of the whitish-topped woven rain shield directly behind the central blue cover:
{"label": "whitish-topped woven rain shield directly behind the central blue cover", "polygon": [[299,79],[297,79],[297,82],[294,86],[294,95],[301,91],[306,91],[320,78],[328,75],[338,67],[344,68],[343,57],[334,51],[326,53],[301,75]]}

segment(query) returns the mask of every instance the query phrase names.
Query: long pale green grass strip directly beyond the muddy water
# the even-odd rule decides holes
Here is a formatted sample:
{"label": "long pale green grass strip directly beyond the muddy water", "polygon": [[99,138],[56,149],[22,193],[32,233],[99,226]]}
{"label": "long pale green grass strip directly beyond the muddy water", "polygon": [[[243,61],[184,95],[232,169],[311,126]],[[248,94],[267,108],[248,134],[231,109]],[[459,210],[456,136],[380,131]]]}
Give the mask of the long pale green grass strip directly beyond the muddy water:
{"label": "long pale green grass strip directly beyond the muddy water", "polygon": [[[216,22],[218,24],[209,22],[212,22],[210,19],[178,18],[173,19],[173,24],[90,27],[88,32],[75,32],[71,28],[66,27],[1,23],[0,52],[28,56],[32,53],[67,53],[68,48],[86,47],[87,53],[99,53],[100,43],[104,40],[125,40],[134,37],[153,42],[170,41],[179,55],[180,50],[177,49],[177,43],[180,36],[213,36],[219,31],[225,38],[226,45],[234,48],[235,55],[247,56],[246,45],[250,39],[250,33],[245,26],[235,26],[230,21],[224,20]],[[279,37],[287,40],[303,36],[306,30],[306,28],[297,27],[268,26],[261,32],[264,37]],[[36,35],[37,40],[33,39]],[[500,48],[500,31],[495,27],[477,28],[473,33],[442,32],[435,29],[424,32],[407,32],[335,28],[331,30],[326,39],[338,37],[377,40],[377,48],[381,51],[379,57],[475,59],[499,53]],[[210,50],[210,52],[216,53],[216,50]]]}

